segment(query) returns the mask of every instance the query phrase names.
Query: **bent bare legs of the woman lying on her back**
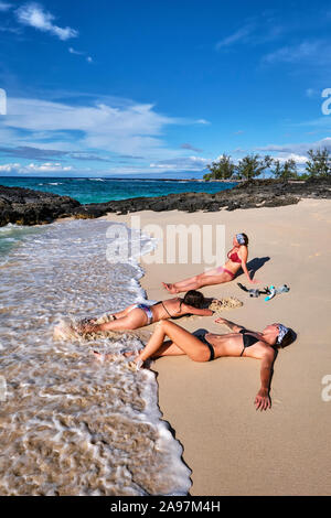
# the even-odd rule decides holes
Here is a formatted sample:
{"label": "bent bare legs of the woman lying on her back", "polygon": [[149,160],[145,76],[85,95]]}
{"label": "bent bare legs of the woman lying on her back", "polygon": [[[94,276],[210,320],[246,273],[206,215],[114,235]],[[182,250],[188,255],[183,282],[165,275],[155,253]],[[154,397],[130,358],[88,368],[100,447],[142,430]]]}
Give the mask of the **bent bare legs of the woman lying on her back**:
{"label": "bent bare legs of the woman lying on her back", "polygon": [[156,327],[147,346],[140,352],[135,361],[139,365],[148,358],[166,355],[164,337],[168,336],[173,344],[194,361],[207,361],[210,359],[209,348],[189,331],[169,321],[161,321]]}

